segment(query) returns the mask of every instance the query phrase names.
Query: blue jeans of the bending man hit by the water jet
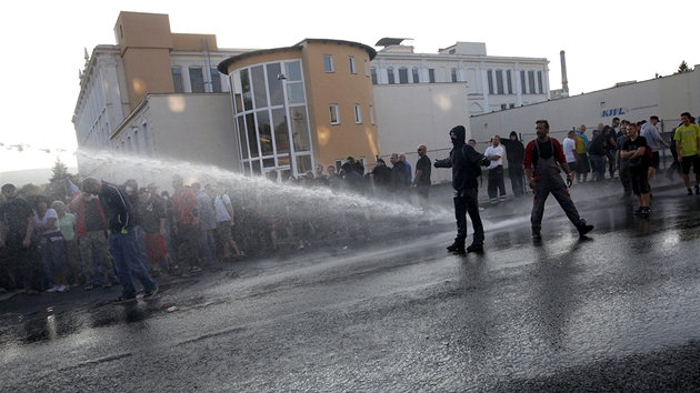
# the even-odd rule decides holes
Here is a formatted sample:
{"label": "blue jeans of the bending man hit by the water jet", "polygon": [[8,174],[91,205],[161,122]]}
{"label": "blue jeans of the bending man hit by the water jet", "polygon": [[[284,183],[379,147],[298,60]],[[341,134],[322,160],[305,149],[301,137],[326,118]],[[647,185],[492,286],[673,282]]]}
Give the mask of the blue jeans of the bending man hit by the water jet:
{"label": "blue jeans of the bending man hit by the water jet", "polygon": [[131,230],[129,233],[111,233],[107,241],[109,242],[109,250],[114,260],[117,276],[119,278],[119,282],[121,282],[122,296],[136,296],[136,288],[133,286],[133,279],[131,278],[132,273],[141,281],[146,292],[158,288],[158,284],[148,274],[148,271],[139,259],[136,231]]}

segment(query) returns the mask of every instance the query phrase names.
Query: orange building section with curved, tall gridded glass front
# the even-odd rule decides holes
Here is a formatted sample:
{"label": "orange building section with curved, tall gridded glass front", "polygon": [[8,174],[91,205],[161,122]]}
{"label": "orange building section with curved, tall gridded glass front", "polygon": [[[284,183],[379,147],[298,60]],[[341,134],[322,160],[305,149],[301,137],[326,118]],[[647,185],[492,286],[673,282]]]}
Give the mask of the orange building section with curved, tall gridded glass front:
{"label": "orange building section with curved, tall gridded glass front", "polygon": [[218,69],[230,78],[243,173],[299,175],[316,164],[379,154],[370,61],[362,43],[306,39],[246,52]]}

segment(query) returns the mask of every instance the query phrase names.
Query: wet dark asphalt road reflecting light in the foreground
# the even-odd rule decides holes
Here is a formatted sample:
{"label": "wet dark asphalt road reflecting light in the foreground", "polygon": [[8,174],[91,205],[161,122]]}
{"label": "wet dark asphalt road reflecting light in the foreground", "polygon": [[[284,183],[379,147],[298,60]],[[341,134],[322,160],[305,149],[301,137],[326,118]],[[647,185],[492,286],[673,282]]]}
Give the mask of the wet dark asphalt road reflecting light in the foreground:
{"label": "wet dark asphalt road reflecting light in the foreground", "polygon": [[118,288],[14,296],[0,391],[700,391],[700,196],[656,191],[649,219],[578,206],[584,239],[548,204],[533,243],[513,201],[487,208],[478,254],[444,252],[442,216],[163,279],[129,305],[108,304]]}

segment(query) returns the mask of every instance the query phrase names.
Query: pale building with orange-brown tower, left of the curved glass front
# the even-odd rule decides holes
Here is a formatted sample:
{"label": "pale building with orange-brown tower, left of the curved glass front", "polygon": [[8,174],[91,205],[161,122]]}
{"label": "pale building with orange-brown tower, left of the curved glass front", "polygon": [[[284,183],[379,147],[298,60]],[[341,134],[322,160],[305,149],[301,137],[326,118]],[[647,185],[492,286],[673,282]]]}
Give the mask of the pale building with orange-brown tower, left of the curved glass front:
{"label": "pale building with orange-brown tower, left of the curved glass front", "polygon": [[86,52],[78,147],[234,169],[230,88],[216,66],[246,50],[219,49],[213,34],[172,33],[167,14],[121,12],[114,37],[118,44]]}

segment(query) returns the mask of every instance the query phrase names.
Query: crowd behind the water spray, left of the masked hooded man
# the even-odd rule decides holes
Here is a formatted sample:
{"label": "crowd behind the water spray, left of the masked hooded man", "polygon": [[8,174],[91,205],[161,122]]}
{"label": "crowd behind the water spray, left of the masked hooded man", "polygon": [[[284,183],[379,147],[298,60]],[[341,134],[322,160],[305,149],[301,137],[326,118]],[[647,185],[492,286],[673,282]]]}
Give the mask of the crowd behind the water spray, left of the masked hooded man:
{"label": "crowd behind the water spray, left of the masked hooded man", "polygon": [[[390,157],[391,168],[379,159],[367,173],[360,161],[348,157],[338,172],[328,165],[324,173],[319,164],[298,178],[278,179],[277,171],[267,178],[274,184],[406,203],[416,193],[419,208],[427,212],[431,183],[427,147],[420,145],[414,172],[406,154],[397,153]],[[163,272],[179,276],[218,270],[220,263],[248,253],[277,252],[280,238],[286,238],[286,245],[303,249],[314,236],[367,233],[368,218],[358,212],[326,216],[269,192],[237,192],[223,183],[184,184],[181,175],[172,177],[172,189],[170,195],[159,193],[154,183],[139,188],[133,179],[113,184],[88,178],[80,195],[50,201],[41,194],[26,200],[13,184],[4,184],[0,292],[24,289],[34,295],[120,284],[117,301],[126,302],[137,296],[134,278],[148,298],[158,292],[156,279]]]}

